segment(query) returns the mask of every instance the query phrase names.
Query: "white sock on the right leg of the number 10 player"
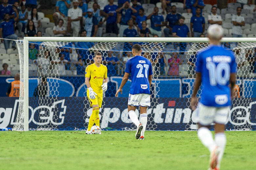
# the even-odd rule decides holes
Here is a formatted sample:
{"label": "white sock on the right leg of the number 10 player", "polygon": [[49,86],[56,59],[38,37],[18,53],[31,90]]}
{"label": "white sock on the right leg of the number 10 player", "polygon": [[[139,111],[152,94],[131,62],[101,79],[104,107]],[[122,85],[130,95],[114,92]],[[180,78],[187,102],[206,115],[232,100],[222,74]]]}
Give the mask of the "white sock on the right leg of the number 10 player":
{"label": "white sock on the right leg of the number 10 player", "polygon": [[217,164],[217,168],[220,169],[222,156],[224,154],[224,150],[225,150],[225,146],[226,146],[226,135],[225,135],[225,133],[216,133],[215,134],[215,143],[217,144],[217,146],[219,146],[221,148],[221,152],[219,154],[218,164]]}

